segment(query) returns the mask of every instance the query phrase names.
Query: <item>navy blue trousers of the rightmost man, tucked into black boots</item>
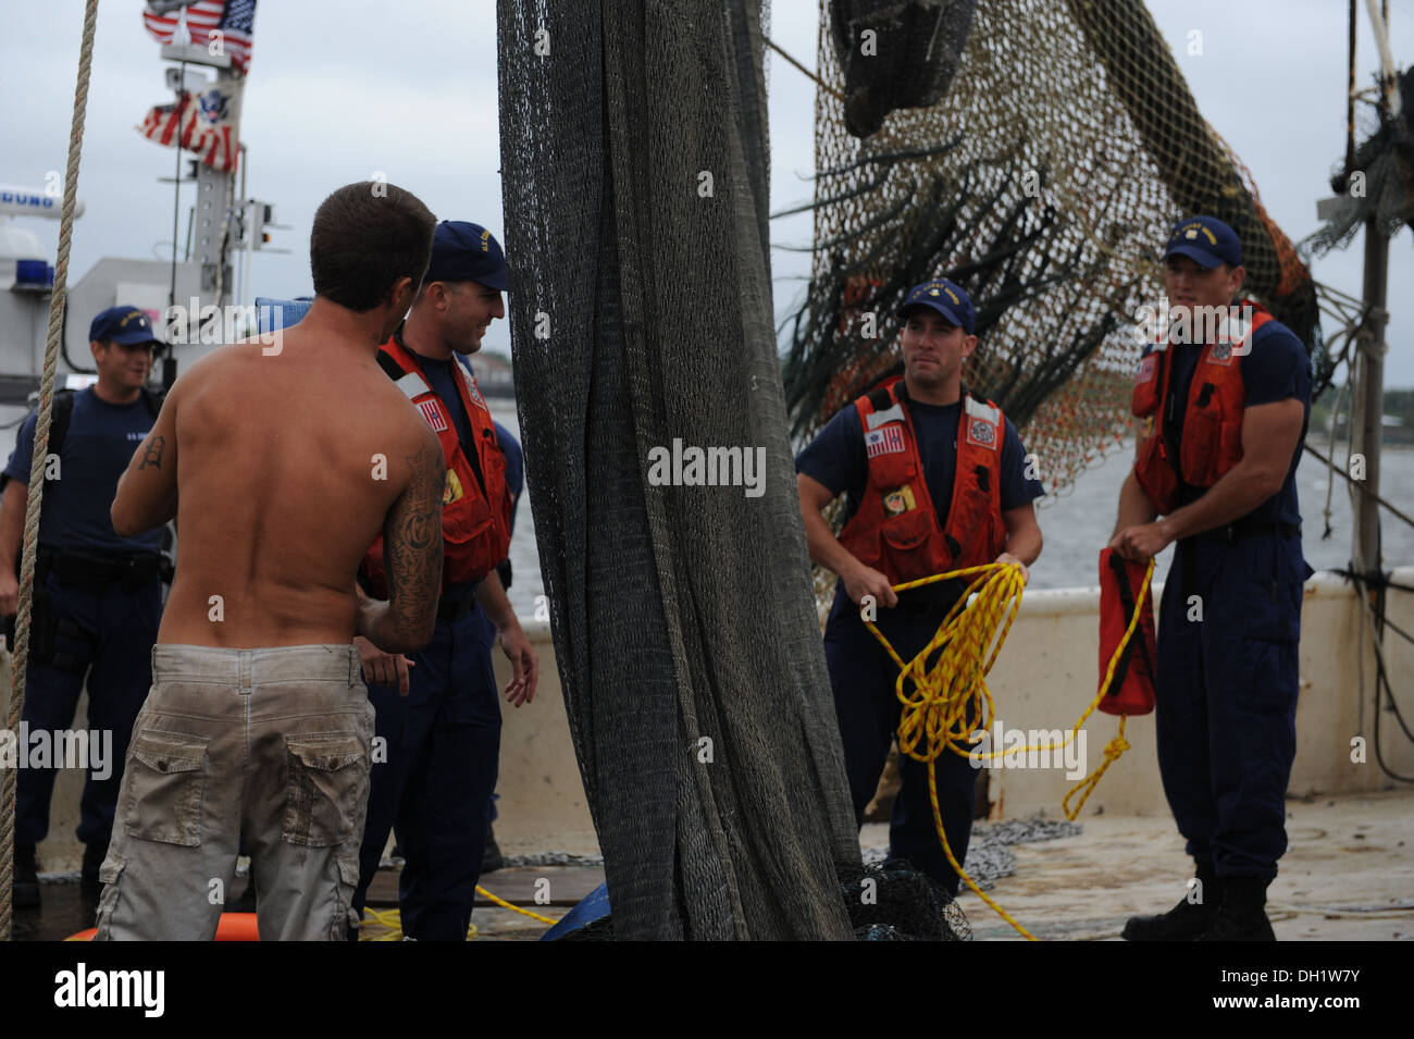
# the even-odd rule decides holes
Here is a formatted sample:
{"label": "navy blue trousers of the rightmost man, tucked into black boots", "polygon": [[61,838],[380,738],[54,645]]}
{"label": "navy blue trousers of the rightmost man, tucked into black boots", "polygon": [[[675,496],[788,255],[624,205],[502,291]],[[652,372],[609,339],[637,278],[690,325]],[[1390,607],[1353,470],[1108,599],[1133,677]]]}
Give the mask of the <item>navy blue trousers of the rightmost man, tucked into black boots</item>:
{"label": "navy blue trousers of the rightmost man, tucked into black boots", "polygon": [[1287,850],[1311,573],[1295,534],[1195,537],[1178,543],[1164,587],[1158,768],[1188,852],[1219,876],[1270,879]]}

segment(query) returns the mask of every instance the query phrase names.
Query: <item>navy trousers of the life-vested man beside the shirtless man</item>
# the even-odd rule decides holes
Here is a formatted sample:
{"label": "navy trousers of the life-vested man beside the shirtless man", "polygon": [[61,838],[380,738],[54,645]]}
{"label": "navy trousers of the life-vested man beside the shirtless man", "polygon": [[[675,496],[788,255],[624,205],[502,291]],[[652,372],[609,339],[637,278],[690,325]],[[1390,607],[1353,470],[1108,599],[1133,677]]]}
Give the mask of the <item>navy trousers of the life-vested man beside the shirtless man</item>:
{"label": "navy trousers of the life-vested man beside the shirtless man", "polygon": [[354,909],[396,826],[403,848],[399,902],[403,934],[420,941],[462,941],[481,878],[491,827],[491,794],[501,753],[501,703],[479,606],[438,621],[433,640],[411,654],[409,694],[369,686],[378,712],[368,821],[359,850]]}

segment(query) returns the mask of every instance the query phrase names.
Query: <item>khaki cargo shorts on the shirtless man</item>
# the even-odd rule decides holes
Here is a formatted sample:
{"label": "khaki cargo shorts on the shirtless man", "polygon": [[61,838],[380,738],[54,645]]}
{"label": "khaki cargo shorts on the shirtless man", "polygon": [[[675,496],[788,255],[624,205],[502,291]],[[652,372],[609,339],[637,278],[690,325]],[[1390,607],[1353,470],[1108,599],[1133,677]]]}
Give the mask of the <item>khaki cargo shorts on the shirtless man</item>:
{"label": "khaki cargo shorts on the shirtless man", "polygon": [[354,646],[153,646],[96,940],[209,940],[242,837],[260,939],[344,940],[372,741]]}

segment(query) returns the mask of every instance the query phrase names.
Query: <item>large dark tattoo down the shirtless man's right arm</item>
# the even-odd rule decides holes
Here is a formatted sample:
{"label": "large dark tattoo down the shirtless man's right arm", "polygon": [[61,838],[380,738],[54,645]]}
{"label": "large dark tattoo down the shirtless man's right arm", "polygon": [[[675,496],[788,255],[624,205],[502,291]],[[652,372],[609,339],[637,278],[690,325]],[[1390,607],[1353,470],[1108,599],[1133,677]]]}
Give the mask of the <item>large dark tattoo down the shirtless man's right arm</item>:
{"label": "large dark tattoo down the shirtless man's right arm", "polygon": [[430,626],[437,612],[443,573],[441,500],[445,485],[441,447],[431,442],[404,455],[411,478],[389,509],[383,527],[383,563],[393,625],[404,633]]}

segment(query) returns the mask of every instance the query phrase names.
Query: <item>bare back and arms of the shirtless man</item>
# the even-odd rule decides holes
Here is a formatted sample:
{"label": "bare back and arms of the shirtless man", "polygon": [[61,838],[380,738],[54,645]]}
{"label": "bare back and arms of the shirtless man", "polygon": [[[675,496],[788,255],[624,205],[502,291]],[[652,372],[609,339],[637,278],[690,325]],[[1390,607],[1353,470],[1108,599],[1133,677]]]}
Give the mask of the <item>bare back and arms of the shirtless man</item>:
{"label": "bare back and arms of the shirtless man", "polygon": [[[163,495],[175,478],[177,575],[157,642],[253,649],[359,633],[413,647],[441,578],[441,447],[375,344],[318,305],[281,335],[194,365],[119,483],[115,529],[153,526],[173,515]],[[392,606],[361,622],[354,574],[380,530]]]}

